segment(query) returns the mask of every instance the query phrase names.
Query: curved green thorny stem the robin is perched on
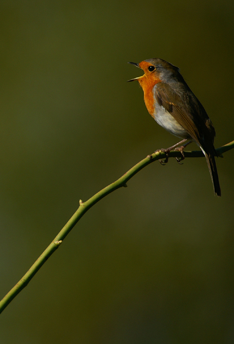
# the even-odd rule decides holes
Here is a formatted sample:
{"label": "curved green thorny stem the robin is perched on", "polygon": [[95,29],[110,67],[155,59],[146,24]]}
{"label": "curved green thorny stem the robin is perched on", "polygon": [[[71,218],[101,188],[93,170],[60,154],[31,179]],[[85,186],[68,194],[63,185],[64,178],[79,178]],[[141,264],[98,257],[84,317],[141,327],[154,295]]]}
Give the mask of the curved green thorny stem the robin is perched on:
{"label": "curved green thorny stem the robin is perched on", "polygon": [[[216,149],[216,152],[219,156],[222,153],[234,148],[234,141],[224,146]],[[204,157],[202,151],[184,151],[184,156],[186,158],[195,158],[195,157]],[[179,151],[171,151],[169,157],[181,157]],[[77,224],[80,218],[91,208],[95,203],[100,201],[105,196],[109,195],[111,192],[117,190],[120,187],[126,187],[126,183],[130,178],[132,178],[137,172],[141,171],[144,167],[151,164],[153,161],[166,158],[164,152],[157,152],[151,155],[148,155],[145,159],[140,161],[138,164],[133,166],[128,172],[123,174],[119,179],[114,183],[108,185],[94,196],[92,196],[88,201],[80,201],[80,206],[74,215],[70,218],[67,224],[60,230],[59,234],[55,237],[52,243],[47,247],[47,249],[41,254],[41,256],[34,262],[30,267],[29,271],[22,277],[22,279],[3,297],[0,301],[0,313],[6,308],[6,306],[16,297],[19,292],[28,285],[32,277],[37,273],[40,267],[45,263],[45,261],[58,249],[59,245],[62,243],[62,240],[67,236],[71,229]]]}

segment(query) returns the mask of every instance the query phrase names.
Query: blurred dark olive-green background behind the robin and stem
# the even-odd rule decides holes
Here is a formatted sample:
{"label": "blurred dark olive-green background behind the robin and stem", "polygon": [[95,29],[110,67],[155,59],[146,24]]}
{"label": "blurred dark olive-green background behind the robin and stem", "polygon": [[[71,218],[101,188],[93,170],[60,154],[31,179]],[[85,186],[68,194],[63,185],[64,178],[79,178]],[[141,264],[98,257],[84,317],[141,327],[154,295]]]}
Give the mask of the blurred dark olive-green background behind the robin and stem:
{"label": "blurred dark olive-green background behind the robin and stem", "polygon": [[[0,1],[1,297],[80,199],[177,142],[128,61],[180,67],[215,146],[234,140],[233,42],[233,1]],[[0,343],[234,343],[234,150],[217,168],[221,199],[205,159],[170,159],[96,204],[2,313]]]}

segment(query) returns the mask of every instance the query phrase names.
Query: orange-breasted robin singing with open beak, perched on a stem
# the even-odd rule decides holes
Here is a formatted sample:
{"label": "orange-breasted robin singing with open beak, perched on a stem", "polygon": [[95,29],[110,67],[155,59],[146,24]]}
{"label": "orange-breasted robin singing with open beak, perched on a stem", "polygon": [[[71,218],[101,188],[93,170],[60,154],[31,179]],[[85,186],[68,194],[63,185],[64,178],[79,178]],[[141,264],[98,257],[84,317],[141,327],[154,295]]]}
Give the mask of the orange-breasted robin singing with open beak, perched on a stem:
{"label": "orange-breasted robin singing with open beak, perched on a stem", "polygon": [[[183,139],[172,147],[161,149],[167,154],[170,150],[189,140],[202,149],[213,182],[214,192],[221,196],[219,177],[215,164],[217,153],[214,148],[215,130],[204,107],[193,94],[179,73],[179,68],[161,58],[150,58],[140,63],[129,62],[144,70],[138,80],[144,91],[144,100],[149,114],[171,134]],[[187,145],[175,149],[181,151]],[[184,156],[180,159],[184,159]]]}

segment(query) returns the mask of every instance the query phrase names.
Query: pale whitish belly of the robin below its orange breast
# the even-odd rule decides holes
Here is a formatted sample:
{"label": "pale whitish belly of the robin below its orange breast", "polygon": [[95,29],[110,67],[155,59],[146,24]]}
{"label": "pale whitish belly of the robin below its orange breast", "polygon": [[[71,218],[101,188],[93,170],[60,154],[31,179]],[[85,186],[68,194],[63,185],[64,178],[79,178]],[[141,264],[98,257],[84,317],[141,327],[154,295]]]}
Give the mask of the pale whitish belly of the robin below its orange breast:
{"label": "pale whitish belly of the robin below its orange breast", "polygon": [[189,134],[186,130],[175,120],[175,118],[170,115],[169,112],[165,110],[165,108],[159,105],[157,102],[155,106],[155,113],[153,114],[154,119],[156,122],[161,125],[164,129],[169,131],[171,134],[186,139],[189,138]]}

